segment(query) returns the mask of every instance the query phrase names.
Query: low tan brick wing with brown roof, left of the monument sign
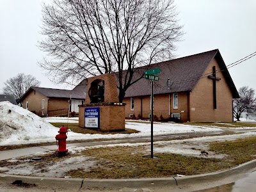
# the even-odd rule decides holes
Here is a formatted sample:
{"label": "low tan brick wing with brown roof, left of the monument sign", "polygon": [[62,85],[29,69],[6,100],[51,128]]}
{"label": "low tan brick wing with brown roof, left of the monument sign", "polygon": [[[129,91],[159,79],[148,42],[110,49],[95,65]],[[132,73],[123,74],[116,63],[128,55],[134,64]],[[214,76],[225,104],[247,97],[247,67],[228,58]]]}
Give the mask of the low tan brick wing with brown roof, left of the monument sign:
{"label": "low tan brick wing with brown roof, left of the monument sign", "polygon": [[[73,90],[31,87],[22,95],[22,106],[40,116],[64,116],[68,111],[79,112],[78,105],[84,104],[86,80]],[[71,104],[70,104],[71,98]]]}

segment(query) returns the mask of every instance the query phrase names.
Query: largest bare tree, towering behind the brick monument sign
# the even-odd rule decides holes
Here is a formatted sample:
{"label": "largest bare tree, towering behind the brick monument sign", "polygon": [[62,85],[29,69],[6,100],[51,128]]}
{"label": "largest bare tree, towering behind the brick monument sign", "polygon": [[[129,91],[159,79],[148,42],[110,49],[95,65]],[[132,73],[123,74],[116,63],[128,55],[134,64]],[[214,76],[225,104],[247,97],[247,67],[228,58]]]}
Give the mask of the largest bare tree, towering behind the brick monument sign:
{"label": "largest bare tree, towering behind the brick monument sign", "polygon": [[118,78],[119,100],[140,66],[168,60],[182,35],[173,0],[52,0],[43,6],[39,63],[55,83],[99,74]]}

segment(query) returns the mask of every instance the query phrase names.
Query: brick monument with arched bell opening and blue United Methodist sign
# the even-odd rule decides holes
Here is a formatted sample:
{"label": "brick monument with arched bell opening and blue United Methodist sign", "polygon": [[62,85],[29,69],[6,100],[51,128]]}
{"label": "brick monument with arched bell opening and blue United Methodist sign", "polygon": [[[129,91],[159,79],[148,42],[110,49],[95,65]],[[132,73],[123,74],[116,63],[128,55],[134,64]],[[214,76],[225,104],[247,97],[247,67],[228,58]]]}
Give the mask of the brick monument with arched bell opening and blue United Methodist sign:
{"label": "brick monument with arched bell opening and blue United Methodist sign", "polygon": [[124,131],[125,104],[118,102],[115,74],[88,78],[85,103],[79,106],[79,127]]}

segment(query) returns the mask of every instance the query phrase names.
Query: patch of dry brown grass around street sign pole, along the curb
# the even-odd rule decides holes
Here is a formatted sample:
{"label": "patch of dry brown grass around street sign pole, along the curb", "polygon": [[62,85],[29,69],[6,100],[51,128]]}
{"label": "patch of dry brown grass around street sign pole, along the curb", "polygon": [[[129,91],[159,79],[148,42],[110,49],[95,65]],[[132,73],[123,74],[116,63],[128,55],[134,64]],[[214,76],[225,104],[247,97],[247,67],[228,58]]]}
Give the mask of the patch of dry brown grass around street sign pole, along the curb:
{"label": "patch of dry brown grass around street sign pole, along the curb", "polygon": [[211,143],[211,151],[228,155],[223,159],[205,159],[177,154],[154,154],[154,158],[151,159],[145,157],[143,147],[93,148],[84,151],[84,155],[95,157],[98,166],[92,168],[90,172],[78,169],[71,170],[68,174],[81,178],[117,179],[215,172],[256,159],[255,142],[256,137]]}

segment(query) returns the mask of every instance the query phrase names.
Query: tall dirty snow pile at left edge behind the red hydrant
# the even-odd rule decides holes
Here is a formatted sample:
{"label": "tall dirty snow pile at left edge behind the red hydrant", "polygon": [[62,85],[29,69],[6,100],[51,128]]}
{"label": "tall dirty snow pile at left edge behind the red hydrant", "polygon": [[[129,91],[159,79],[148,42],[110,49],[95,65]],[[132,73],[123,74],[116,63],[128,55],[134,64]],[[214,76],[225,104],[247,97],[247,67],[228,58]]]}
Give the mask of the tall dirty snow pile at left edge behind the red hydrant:
{"label": "tall dirty snow pile at left edge behind the red hydrant", "polygon": [[0,102],[0,145],[9,141],[43,141],[45,135],[54,139],[56,133],[58,128],[40,116],[8,101]]}

